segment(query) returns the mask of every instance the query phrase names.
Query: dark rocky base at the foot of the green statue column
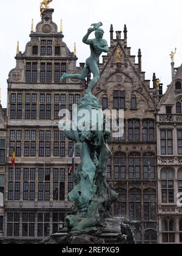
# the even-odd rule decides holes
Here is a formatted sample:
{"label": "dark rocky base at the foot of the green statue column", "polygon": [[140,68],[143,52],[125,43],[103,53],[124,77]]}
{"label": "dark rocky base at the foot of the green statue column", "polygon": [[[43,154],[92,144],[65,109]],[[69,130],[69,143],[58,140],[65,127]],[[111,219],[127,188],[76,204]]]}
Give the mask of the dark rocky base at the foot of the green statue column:
{"label": "dark rocky base at the foot of the green statue column", "polygon": [[96,233],[72,235],[67,230],[45,238],[42,244],[135,244],[134,230],[140,223],[123,218],[106,219],[106,227]]}

